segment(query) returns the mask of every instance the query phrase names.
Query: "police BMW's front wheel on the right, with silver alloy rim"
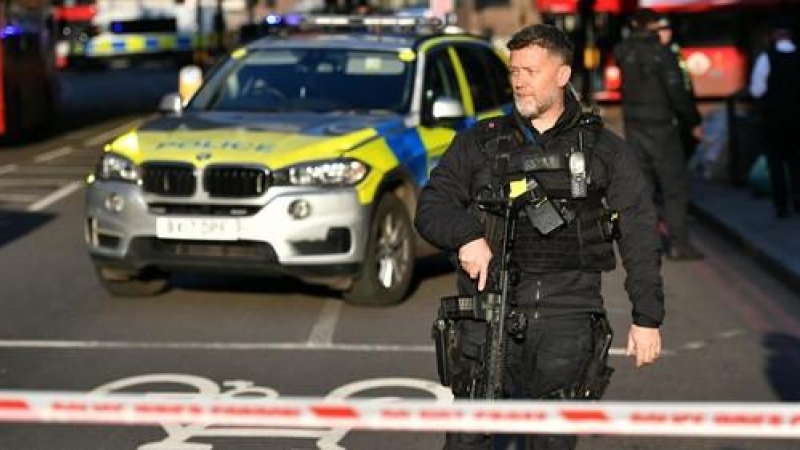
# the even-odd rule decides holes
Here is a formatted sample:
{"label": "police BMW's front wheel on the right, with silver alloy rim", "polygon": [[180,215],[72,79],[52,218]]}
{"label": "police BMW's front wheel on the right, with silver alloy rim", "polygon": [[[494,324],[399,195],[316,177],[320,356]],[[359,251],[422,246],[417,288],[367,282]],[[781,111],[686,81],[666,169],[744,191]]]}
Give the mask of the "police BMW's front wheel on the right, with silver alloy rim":
{"label": "police BMW's front wheel on the right, with silver alloy rim", "polygon": [[361,275],[344,293],[348,303],[385,306],[405,299],[414,272],[414,233],[408,209],[396,196],[385,195],[369,230]]}

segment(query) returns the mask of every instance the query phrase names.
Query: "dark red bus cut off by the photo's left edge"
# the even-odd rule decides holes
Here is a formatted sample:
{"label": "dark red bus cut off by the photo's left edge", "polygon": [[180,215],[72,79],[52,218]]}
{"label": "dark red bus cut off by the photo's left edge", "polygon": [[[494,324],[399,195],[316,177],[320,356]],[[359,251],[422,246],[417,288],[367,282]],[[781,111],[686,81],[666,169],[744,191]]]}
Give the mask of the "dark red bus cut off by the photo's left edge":
{"label": "dark red bus cut off by the photo's left edge", "polygon": [[16,139],[55,116],[58,83],[46,0],[0,0],[0,137]]}

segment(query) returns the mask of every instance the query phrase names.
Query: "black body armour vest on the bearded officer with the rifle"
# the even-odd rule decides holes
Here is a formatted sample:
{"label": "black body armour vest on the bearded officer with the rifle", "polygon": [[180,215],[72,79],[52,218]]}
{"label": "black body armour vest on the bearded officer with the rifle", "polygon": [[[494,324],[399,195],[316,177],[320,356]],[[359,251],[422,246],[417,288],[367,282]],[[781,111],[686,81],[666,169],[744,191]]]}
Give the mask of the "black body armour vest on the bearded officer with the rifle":
{"label": "black body armour vest on the bearded officer with the rifle", "polygon": [[[585,114],[577,126],[565,130],[546,146],[526,143],[512,117],[506,116],[498,122],[500,126],[485,133],[481,143],[487,162],[493,168],[496,166],[492,162],[505,152],[499,143],[508,140],[511,143],[509,160],[520,161],[524,158],[527,161],[528,176],[532,175],[547,197],[565,213],[566,219],[563,226],[542,235],[525,216],[524,209],[521,210],[514,236],[512,261],[529,273],[613,270],[616,256],[607,226],[609,211],[604,208],[605,192],[592,182],[591,177],[593,167],[602,164],[592,154],[592,145],[602,128],[600,119]],[[570,155],[576,151],[584,154],[588,178],[586,195],[581,198],[573,196],[574,177],[569,167]],[[496,180],[497,174],[492,173],[492,179]],[[497,182],[490,183],[488,189],[494,189],[492,186],[497,186]],[[493,221],[500,220],[502,218],[494,218]],[[494,252],[500,250],[497,248],[497,233],[493,232],[498,228],[502,229],[487,226],[487,237]]]}

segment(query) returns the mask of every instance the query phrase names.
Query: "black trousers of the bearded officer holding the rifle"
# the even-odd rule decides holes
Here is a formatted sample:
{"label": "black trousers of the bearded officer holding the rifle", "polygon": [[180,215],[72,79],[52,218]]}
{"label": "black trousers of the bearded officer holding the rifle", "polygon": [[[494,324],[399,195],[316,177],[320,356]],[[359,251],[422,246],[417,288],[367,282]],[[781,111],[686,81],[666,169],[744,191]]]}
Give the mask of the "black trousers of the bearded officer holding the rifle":
{"label": "black trousers of the bearded officer holding the rifle", "polygon": [[[523,309],[524,311],[524,309]],[[533,317],[529,312],[529,317]],[[453,361],[453,394],[469,397],[471,374],[483,358],[486,324],[462,320],[458,355]],[[592,324],[589,314],[574,314],[529,320],[524,339],[509,338],[506,346],[505,395],[538,399],[579,382],[592,357]],[[445,450],[489,450],[505,448],[512,440],[524,442],[526,450],[573,450],[574,435],[526,435],[523,437],[448,433]],[[519,447],[517,447],[519,448]]]}

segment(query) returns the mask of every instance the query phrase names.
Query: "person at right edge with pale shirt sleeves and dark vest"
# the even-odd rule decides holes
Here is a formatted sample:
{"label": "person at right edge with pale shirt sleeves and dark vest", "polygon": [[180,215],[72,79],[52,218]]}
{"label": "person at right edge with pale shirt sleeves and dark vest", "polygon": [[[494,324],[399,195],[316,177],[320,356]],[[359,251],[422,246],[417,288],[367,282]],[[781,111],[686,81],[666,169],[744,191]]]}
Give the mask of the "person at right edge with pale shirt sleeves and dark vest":
{"label": "person at right edge with pale shirt sleeves and dark vest", "polygon": [[771,25],[770,47],[753,65],[749,90],[760,99],[775,217],[784,219],[790,216],[790,201],[800,213],[800,52],[792,41],[789,17],[773,19]]}

